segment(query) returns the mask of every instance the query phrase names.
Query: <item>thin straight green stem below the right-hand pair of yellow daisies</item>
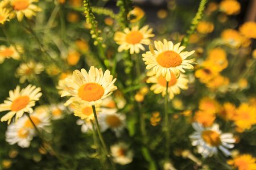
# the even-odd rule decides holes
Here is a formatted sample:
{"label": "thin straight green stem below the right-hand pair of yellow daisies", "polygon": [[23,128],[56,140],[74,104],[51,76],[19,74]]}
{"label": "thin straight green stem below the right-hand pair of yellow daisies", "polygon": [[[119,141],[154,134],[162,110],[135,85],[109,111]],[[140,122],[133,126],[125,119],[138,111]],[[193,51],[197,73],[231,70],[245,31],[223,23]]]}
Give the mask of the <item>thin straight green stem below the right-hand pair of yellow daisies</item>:
{"label": "thin straight green stem below the right-hand pair of yellow daisies", "polygon": [[168,83],[166,82],[166,96],[164,99],[164,132],[166,133],[166,152],[164,158],[168,160],[170,155],[170,132],[169,132],[169,118],[168,118]]}

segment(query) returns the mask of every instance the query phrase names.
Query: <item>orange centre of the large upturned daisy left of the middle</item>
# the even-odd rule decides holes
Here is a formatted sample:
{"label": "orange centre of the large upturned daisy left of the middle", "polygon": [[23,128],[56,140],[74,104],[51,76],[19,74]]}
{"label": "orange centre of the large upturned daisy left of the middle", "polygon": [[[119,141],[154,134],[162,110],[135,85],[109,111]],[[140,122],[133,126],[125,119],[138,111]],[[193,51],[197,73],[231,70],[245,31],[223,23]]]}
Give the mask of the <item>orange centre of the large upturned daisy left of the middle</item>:
{"label": "orange centre of the large upturned daisy left of the middle", "polygon": [[85,101],[96,101],[104,95],[104,88],[97,83],[86,83],[79,88],[79,97]]}

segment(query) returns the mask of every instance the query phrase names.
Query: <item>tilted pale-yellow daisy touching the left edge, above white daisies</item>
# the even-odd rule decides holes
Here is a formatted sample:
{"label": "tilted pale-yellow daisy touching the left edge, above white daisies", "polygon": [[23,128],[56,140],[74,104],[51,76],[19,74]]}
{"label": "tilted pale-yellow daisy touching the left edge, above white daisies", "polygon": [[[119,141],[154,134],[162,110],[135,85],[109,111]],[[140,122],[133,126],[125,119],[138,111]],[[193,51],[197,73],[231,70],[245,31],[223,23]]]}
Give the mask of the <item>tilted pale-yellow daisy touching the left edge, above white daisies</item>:
{"label": "tilted pale-yellow daisy touching the left edge, above white daisies", "polygon": [[1,118],[1,121],[8,121],[10,124],[11,119],[16,115],[15,121],[22,117],[24,112],[32,113],[32,107],[35,106],[35,101],[38,101],[42,96],[40,92],[41,88],[36,86],[28,85],[26,88],[20,90],[17,86],[15,90],[9,91],[10,97],[0,104],[0,112],[10,111]]}

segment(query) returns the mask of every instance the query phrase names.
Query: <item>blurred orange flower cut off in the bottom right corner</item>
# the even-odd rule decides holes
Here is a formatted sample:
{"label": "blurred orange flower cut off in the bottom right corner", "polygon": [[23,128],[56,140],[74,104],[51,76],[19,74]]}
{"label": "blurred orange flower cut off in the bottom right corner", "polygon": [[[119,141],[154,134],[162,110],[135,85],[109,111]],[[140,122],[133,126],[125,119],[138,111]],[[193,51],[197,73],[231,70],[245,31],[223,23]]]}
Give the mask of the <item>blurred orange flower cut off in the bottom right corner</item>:
{"label": "blurred orange flower cut off in the bottom right corner", "polygon": [[256,159],[249,154],[237,155],[235,158],[228,160],[227,163],[238,170],[256,169]]}

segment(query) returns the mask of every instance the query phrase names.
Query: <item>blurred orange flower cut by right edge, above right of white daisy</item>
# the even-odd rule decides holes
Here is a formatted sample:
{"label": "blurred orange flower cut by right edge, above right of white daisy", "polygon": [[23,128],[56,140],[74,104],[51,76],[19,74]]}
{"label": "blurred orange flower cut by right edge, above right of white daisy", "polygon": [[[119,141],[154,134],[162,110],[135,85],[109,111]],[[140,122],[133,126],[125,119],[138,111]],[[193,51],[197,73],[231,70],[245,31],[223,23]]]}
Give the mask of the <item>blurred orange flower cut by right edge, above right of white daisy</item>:
{"label": "blurred orange flower cut by right edge, above right of white daisy", "polygon": [[240,107],[236,109],[236,116],[234,117],[234,123],[237,126],[238,132],[243,132],[246,129],[251,129],[251,126],[256,124],[256,107],[246,103],[242,103]]}

